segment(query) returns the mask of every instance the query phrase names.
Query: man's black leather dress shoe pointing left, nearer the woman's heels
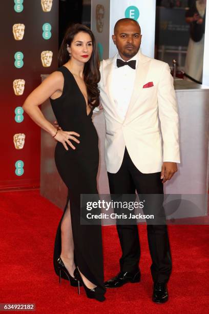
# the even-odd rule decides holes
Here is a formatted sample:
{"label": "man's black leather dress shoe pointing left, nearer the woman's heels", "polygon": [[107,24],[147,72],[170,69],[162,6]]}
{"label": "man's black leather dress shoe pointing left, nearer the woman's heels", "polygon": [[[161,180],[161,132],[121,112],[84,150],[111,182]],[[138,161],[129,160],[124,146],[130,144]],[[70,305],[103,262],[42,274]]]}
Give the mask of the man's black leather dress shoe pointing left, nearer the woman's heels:
{"label": "man's black leather dress shoe pointing left, nearer the woman's heels", "polygon": [[106,281],[105,286],[106,288],[118,288],[128,282],[136,283],[139,281],[140,281],[140,271],[137,271],[135,273],[128,272],[128,271],[120,271],[117,274],[117,276]]}

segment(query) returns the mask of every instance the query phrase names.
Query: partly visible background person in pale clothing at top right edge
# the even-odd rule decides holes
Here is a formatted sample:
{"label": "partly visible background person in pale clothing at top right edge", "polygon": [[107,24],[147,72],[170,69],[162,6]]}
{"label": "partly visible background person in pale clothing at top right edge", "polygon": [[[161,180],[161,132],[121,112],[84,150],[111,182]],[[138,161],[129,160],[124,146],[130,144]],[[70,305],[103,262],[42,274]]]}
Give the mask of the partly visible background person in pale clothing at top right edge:
{"label": "partly visible background person in pale clothing at top right edge", "polygon": [[190,41],[185,60],[185,75],[202,84],[206,0],[197,0],[186,12],[190,24]]}

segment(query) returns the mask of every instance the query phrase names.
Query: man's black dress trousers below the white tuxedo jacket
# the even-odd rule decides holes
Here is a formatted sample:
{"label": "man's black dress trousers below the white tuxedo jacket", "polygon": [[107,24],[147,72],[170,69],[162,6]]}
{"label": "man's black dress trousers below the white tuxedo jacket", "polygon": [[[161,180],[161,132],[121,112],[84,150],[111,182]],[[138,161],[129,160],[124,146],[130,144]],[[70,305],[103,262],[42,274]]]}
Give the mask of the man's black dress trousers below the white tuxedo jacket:
{"label": "man's black dress trousers below the white tuxedo jacket", "polygon": [[[108,172],[111,194],[163,194],[160,172],[142,173],[133,164],[127,149],[117,173]],[[164,209],[161,204],[161,208]],[[156,208],[158,211],[158,208]],[[144,214],[147,214],[144,212]],[[137,225],[117,225],[122,249],[120,258],[121,271],[139,269],[140,244]],[[169,280],[172,261],[168,230],[166,224],[148,224],[148,243],[152,258],[151,273],[154,282],[166,283]]]}

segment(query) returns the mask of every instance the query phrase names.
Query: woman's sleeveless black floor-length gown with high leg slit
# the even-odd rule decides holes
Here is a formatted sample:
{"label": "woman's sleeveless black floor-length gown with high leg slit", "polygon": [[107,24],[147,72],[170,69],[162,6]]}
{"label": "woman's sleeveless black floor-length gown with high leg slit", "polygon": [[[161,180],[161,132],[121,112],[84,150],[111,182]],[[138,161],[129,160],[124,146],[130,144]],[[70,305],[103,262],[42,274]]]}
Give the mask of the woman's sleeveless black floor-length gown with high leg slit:
{"label": "woman's sleeveless black floor-length gown with high leg slit", "polygon": [[64,88],[60,97],[50,99],[52,109],[62,130],[80,134],[80,143],[72,141],[75,150],[68,146],[67,151],[60,142],[57,142],[55,148],[56,167],[68,187],[68,198],[55,238],[54,269],[58,275],[56,261],[61,253],[60,227],[70,200],[75,263],[88,280],[100,287],[101,292],[105,292],[101,225],[80,224],[80,194],[98,194],[98,135],[91,119],[92,110],[87,115],[85,97],[73,74],[65,66],[58,68],[58,71],[64,76]]}

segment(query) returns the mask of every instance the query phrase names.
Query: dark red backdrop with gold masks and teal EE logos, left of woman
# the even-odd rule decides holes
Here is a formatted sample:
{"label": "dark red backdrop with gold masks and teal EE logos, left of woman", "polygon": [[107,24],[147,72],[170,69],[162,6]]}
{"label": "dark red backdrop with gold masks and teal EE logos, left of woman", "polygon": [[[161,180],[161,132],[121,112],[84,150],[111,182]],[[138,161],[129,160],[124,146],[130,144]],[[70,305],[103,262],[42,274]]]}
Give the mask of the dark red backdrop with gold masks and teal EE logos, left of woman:
{"label": "dark red backdrop with gold masks and teal EE logos, left of woman", "polygon": [[41,74],[57,68],[58,0],[1,2],[0,189],[35,187],[40,178],[40,129],[24,113]]}

